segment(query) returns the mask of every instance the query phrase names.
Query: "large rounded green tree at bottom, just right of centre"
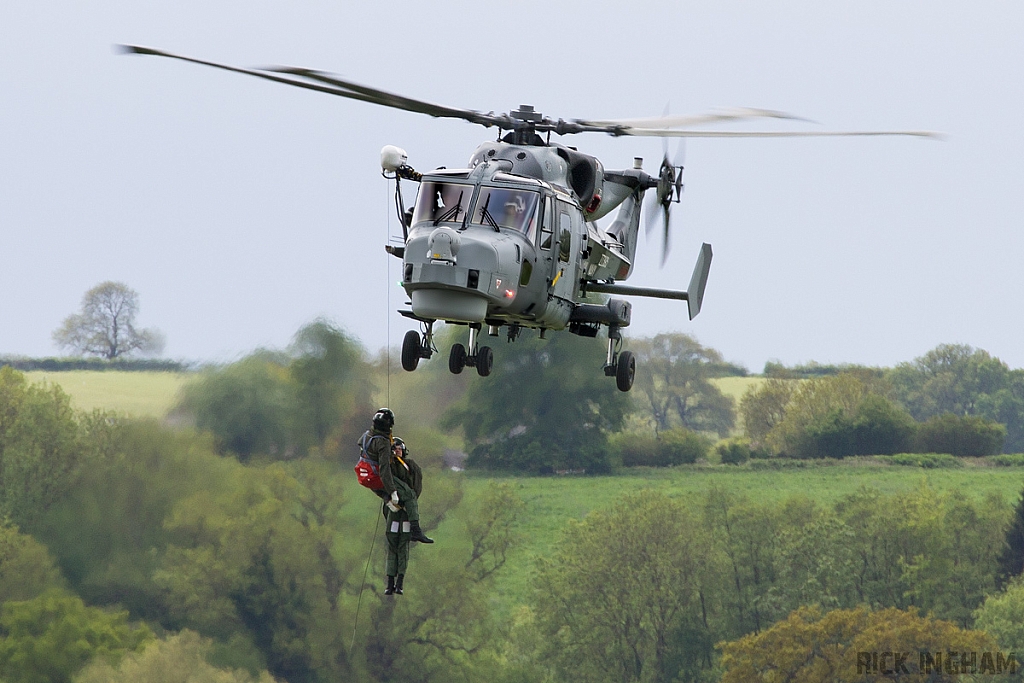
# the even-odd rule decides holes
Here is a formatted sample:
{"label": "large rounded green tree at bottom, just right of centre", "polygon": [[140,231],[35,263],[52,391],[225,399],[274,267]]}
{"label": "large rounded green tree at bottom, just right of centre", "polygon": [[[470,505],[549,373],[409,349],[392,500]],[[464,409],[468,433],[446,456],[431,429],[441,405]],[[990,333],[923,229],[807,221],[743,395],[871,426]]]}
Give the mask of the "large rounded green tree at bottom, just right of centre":
{"label": "large rounded green tree at bottom, just right of centre", "polygon": [[[672,532],[666,532],[672,529]],[[699,670],[707,548],[693,513],[653,492],[570,522],[540,563],[535,606],[558,680],[673,680]]]}

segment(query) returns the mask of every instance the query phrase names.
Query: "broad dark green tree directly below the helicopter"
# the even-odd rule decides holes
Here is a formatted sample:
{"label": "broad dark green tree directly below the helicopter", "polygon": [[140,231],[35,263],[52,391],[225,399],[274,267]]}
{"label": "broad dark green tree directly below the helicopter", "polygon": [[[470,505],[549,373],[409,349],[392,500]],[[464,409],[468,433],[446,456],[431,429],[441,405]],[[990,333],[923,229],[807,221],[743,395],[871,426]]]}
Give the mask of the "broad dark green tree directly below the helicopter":
{"label": "broad dark green tree directly below the helicopter", "polygon": [[595,339],[520,337],[496,354],[490,377],[471,383],[441,424],[462,428],[470,467],[608,471],[606,433],[621,428],[629,398],[598,372],[603,364]]}

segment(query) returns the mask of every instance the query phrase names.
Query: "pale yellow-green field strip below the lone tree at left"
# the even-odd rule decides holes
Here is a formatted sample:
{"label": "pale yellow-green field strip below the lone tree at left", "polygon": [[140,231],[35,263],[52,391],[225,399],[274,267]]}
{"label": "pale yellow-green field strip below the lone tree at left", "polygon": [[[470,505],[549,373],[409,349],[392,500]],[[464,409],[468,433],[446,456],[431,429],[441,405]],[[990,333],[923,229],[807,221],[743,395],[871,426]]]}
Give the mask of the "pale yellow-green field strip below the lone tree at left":
{"label": "pale yellow-green field strip below the lone tree at left", "polygon": [[103,409],[135,417],[162,418],[177,400],[188,373],[119,373],[73,370],[25,373],[30,382],[58,384],[82,411]]}

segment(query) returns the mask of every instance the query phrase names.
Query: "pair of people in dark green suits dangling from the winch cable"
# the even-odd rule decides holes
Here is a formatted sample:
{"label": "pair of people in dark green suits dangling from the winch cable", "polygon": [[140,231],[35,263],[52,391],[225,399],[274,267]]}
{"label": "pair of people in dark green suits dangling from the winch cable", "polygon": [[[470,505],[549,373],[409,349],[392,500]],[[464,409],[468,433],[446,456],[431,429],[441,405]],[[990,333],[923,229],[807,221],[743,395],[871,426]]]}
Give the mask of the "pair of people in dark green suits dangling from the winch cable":
{"label": "pair of people in dark green suits dangling from the winch cable", "polygon": [[409,458],[406,443],[395,438],[394,413],[382,408],[373,426],[359,437],[359,483],[384,500],[384,538],[387,541],[385,595],[403,592],[411,542],[433,543],[420,528],[419,495],[423,489],[420,467]]}

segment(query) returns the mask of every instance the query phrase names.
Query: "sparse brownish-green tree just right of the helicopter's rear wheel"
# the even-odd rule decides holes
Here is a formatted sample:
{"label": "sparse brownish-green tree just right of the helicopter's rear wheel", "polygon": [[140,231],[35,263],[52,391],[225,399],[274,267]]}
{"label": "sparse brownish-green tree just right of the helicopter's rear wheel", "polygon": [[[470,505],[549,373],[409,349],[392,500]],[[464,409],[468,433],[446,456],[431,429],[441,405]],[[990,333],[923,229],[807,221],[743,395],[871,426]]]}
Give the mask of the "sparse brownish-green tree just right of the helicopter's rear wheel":
{"label": "sparse brownish-green tree just right of the helicopter's rear wheel", "polygon": [[634,390],[643,395],[657,430],[680,426],[725,436],[735,422],[733,401],[711,380],[733,374],[722,354],[679,333],[638,339]]}

